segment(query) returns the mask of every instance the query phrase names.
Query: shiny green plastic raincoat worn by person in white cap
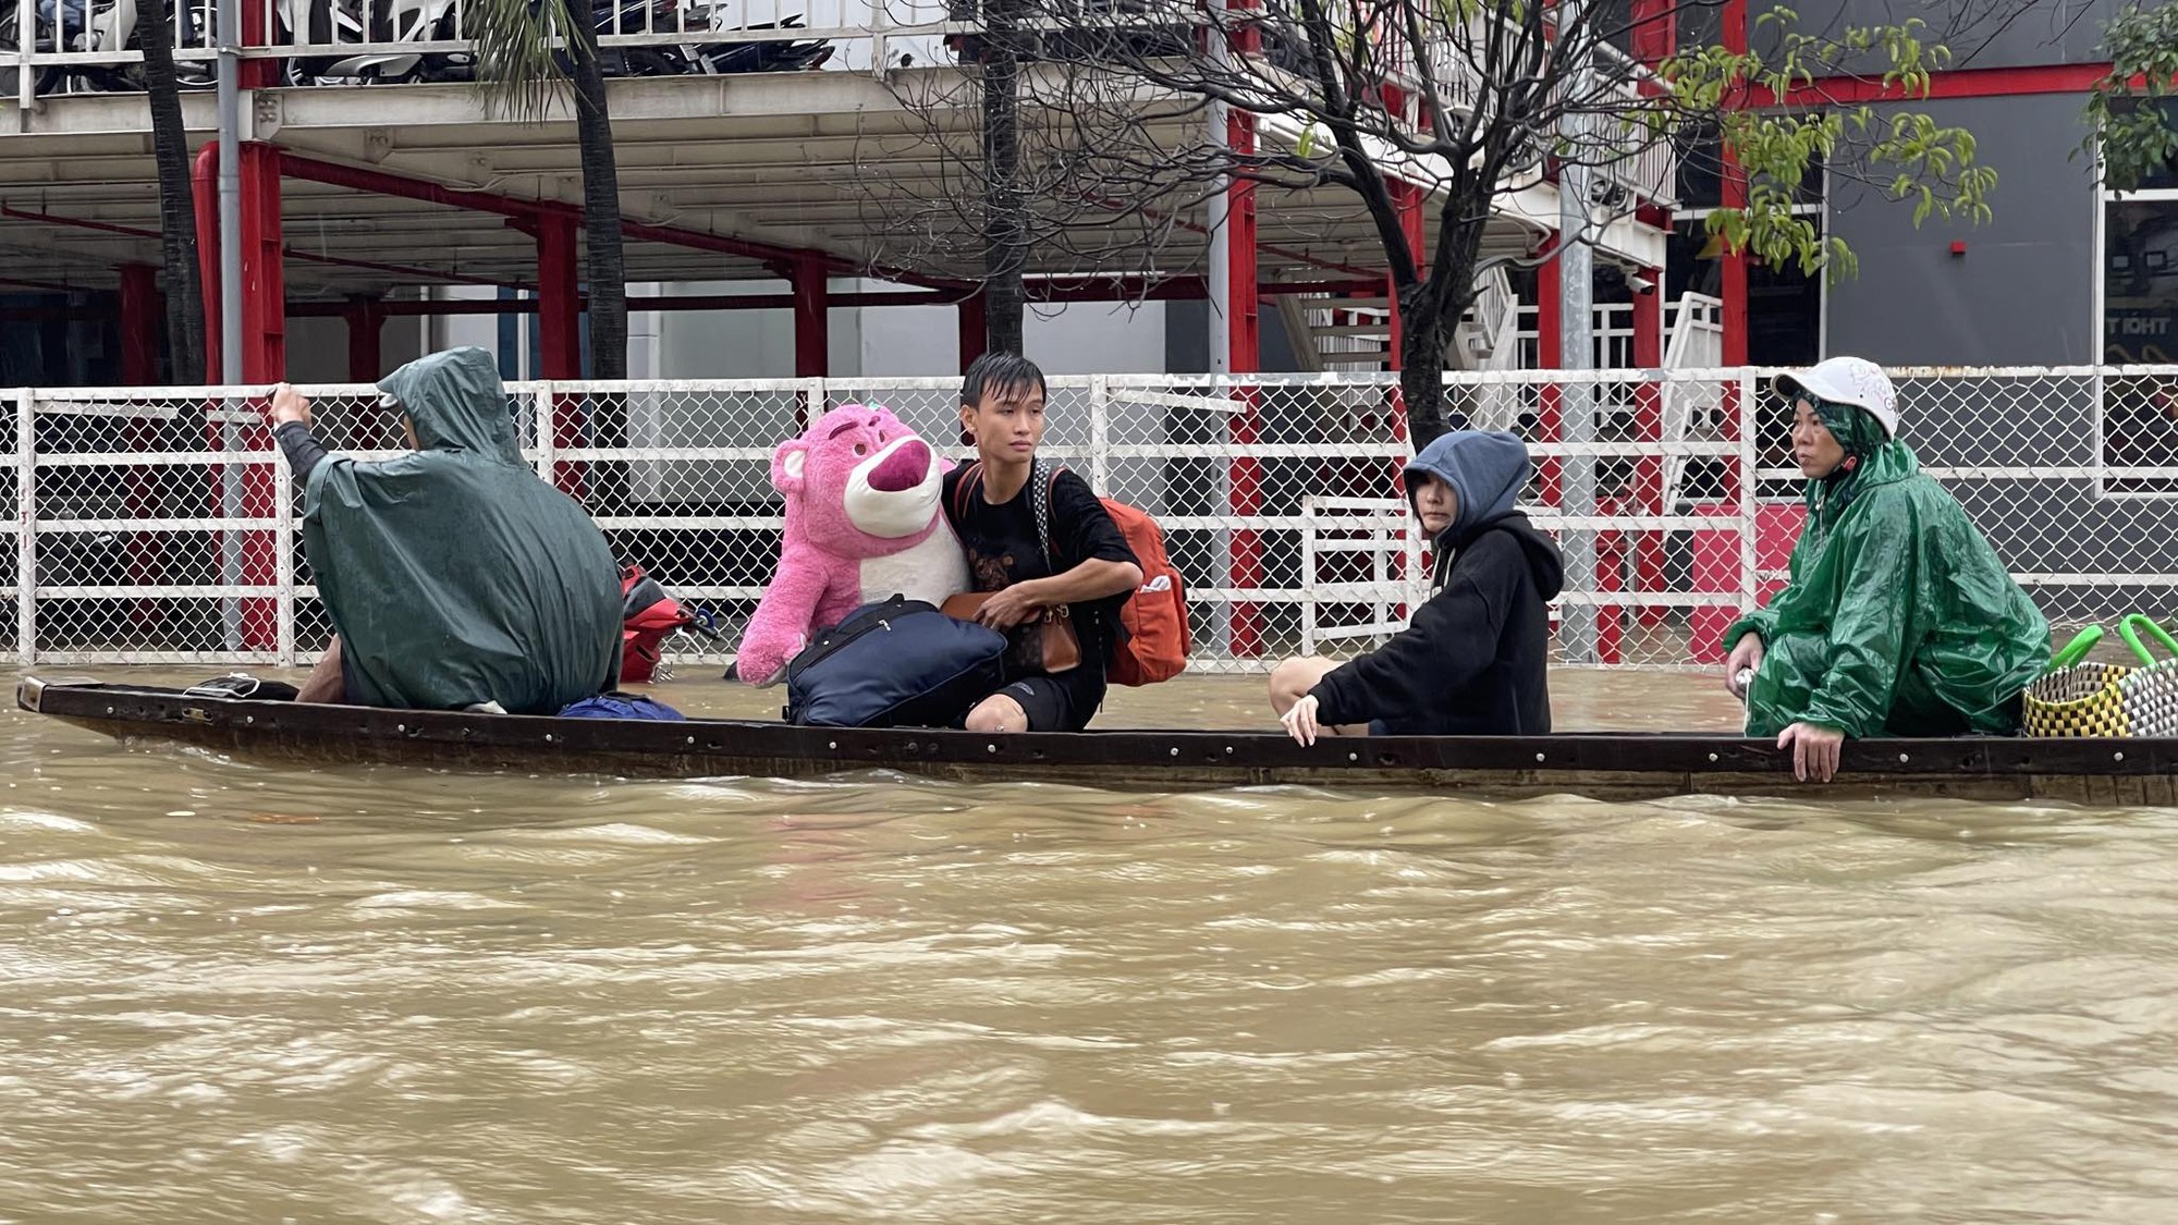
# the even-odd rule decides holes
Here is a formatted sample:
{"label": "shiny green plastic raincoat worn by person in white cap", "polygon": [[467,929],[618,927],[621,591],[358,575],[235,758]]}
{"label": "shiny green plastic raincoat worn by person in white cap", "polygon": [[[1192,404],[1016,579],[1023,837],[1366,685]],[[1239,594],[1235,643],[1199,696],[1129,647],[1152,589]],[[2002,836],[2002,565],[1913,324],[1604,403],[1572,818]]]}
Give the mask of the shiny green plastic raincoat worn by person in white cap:
{"label": "shiny green plastic raincoat worn by person in white cap", "polygon": [[1749,737],[1799,721],[1862,739],[2010,735],[2049,663],[2049,621],[1897,440],[1843,488],[1808,482],[1790,584],[1725,630],[1727,650],[1747,632],[1764,643]]}

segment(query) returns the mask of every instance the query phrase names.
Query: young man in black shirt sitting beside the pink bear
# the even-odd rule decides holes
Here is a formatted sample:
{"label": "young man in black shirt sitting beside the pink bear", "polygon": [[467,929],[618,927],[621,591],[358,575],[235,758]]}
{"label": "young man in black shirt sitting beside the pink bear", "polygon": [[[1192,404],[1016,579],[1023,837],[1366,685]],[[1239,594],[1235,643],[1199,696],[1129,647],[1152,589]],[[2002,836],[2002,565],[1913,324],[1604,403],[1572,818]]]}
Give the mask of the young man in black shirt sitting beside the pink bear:
{"label": "young man in black shirt sitting beside the pink bear", "polygon": [[[960,429],[976,460],[945,473],[945,517],[967,551],[969,584],[991,593],[976,619],[1008,634],[1006,684],[976,702],[971,732],[1078,732],[1104,702],[1104,660],[1119,604],[1141,565],[1089,482],[1037,460],[1043,371],[984,353],[960,386]],[[1072,628],[1080,663],[1050,667],[1045,621]]]}

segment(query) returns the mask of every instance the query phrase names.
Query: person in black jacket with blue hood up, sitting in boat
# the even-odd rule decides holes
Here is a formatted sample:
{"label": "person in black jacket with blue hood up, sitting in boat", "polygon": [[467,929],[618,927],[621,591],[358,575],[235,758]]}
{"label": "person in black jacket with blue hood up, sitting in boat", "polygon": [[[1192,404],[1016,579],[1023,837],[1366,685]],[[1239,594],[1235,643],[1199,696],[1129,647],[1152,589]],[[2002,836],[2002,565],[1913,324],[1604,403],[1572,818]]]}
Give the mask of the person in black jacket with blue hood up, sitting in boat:
{"label": "person in black jacket with blue hood up, sitting in boat", "polygon": [[1466,429],[1407,464],[1407,501],[1435,554],[1429,604],[1366,656],[1289,658],[1270,674],[1296,741],[1551,730],[1549,599],[1566,562],[1514,508],[1531,471],[1516,434]]}

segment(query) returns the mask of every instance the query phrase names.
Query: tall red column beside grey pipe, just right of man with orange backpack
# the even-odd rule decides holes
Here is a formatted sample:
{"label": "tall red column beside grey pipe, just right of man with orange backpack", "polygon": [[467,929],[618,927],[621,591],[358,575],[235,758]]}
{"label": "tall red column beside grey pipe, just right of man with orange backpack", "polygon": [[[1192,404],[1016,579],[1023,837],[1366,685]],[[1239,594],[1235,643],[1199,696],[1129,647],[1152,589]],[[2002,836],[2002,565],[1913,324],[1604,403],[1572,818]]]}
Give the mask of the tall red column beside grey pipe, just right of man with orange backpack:
{"label": "tall red column beside grey pipe, just right of man with orange backpack", "polygon": [[[1226,142],[1233,153],[1255,153],[1255,124],[1244,111],[1226,113]],[[1226,185],[1226,307],[1233,312],[1226,338],[1226,368],[1233,375],[1252,375],[1263,366],[1261,353],[1261,292],[1257,288],[1257,235],[1255,235],[1255,183],[1233,181]],[[1233,416],[1233,449],[1228,466],[1228,506],[1237,517],[1263,512],[1263,462],[1248,453],[1261,432],[1261,405],[1255,390],[1239,397],[1241,410]],[[1263,541],[1252,527],[1233,532],[1233,589],[1248,591],[1263,586]],[[1255,658],[1263,654],[1263,606],[1233,604],[1233,654]]]}

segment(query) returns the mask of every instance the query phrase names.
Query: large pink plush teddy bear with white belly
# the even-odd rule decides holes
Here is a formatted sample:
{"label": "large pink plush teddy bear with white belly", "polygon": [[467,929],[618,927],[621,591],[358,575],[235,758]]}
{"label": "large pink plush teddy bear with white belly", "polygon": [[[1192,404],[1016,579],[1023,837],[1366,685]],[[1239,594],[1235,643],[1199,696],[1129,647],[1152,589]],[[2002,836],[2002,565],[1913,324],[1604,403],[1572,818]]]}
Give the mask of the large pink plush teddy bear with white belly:
{"label": "large pink plush teddy bear with white belly", "polygon": [[786,495],[786,538],[734,674],[778,684],[815,630],[862,604],[967,591],[967,558],[939,506],[947,469],[891,410],[858,403],[780,442],[771,488]]}

